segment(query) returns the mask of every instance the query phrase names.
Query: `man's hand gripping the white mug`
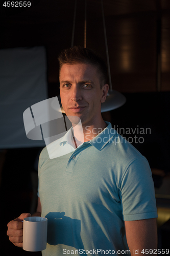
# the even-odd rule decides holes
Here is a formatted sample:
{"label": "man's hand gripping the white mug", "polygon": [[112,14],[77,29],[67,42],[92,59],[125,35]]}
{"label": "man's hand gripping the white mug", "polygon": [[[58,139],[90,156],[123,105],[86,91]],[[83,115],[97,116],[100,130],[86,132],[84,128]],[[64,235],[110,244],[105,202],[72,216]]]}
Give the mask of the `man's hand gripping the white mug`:
{"label": "man's hand gripping the white mug", "polygon": [[7,236],[18,247],[22,247],[23,219],[31,217],[31,214],[21,214],[18,218],[8,223]]}

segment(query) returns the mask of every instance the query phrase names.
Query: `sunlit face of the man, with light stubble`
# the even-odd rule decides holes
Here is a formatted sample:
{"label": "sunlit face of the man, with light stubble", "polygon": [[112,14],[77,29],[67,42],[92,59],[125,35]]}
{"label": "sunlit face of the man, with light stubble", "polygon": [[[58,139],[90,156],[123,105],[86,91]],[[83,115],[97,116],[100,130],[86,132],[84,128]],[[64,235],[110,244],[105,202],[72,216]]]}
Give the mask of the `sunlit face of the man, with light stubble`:
{"label": "sunlit face of the man, with light stubble", "polygon": [[107,96],[108,85],[100,88],[96,67],[77,63],[64,64],[60,70],[60,96],[67,116],[78,116],[82,125],[93,125],[101,118],[101,102]]}

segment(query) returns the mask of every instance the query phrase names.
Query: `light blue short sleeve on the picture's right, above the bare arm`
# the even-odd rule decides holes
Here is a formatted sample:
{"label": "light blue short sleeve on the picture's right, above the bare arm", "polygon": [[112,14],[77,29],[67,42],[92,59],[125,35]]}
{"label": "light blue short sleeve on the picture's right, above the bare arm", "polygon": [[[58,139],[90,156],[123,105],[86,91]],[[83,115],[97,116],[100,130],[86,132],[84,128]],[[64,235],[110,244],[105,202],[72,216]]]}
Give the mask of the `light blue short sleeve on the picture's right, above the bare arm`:
{"label": "light blue short sleeve on the picture's right, above the bare arm", "polygon": [[127,166],[119,189],[123,220],[158,217],[152,173],[145,157],[135,159]]}

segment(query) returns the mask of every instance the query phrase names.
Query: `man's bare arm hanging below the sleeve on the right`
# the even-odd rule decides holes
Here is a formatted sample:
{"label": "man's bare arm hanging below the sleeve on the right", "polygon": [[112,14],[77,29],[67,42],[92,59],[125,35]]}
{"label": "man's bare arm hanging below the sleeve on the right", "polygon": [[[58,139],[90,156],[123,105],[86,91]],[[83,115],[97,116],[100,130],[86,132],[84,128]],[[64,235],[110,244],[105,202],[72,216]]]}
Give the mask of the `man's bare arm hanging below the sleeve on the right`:
{"label": "man's bare arm hanging below the sleeve on the right", "polygon": [[156,218],[137,221],[125,221],[125,230],[131,255],[136,255],[136,253],[134,253],[136,250],[138,250],[138,256],[147,254],[142,253],[143,249],[143,252],[145,252],[145,249],[148,249],[149,255],[152,254],[150,253],[150,249],[153,249],[153,252],[154,249],[157,250]]}

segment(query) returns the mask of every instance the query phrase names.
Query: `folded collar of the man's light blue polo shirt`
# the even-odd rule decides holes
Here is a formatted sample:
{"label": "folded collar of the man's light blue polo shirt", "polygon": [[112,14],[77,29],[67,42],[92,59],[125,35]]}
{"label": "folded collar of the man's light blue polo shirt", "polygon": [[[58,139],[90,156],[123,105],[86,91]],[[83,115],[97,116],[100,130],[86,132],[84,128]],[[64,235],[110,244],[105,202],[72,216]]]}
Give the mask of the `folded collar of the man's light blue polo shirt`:
{"label": "folded collar of the man's light blue polo shirt", "polygon": [[[104,146],[115,136],[116,131],[112,128],[111,123],[105,121],[107,124],[107,127],[97,136],[95,136],[92,140],[89,140],[85,143],[90,143],[92,146],[94,146],[97,150],[101,151]],[[72,144],[72,127],[67,131],[67,133],[63,136],[63,138],[60,141],[60,145],[70,144],[71,146],[74,146]]]}

